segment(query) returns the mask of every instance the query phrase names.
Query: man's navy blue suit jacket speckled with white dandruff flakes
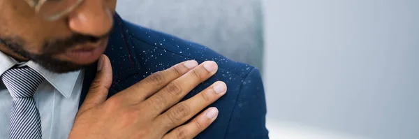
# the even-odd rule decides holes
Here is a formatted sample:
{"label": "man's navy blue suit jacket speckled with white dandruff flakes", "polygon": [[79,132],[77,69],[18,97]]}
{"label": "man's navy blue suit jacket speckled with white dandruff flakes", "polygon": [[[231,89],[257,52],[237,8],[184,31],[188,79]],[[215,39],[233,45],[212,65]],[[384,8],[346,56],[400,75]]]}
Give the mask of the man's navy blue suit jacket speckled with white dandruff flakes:
{"label": "man's navy blue suit jacket speckled with white dandruff flakes", "polygon": [[[219,116],[196,138],[268,138],[265,93],[257,68],[232,61],[208,47],[131,24],[117,14],[105,54],[110,58],[113,70],[109,96],[182,61],[216,61],[218,73],[183,99],[195,96],[218,80],[227,84],[228,92],[210,105],[219,109]],[[95,75],[96,65],[85,70],[80,105]]]}

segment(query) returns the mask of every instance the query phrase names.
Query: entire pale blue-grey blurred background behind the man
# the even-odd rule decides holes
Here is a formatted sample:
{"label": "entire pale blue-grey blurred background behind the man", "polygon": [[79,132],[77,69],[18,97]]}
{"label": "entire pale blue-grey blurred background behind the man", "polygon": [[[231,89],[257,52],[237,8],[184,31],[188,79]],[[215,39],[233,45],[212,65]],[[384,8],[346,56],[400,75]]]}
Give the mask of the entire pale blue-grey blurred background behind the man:
{"label": "entire pale blue-grey blurred background behind the man", "polygon": [[263,71],[270,138],[419,138],[418,0],[121,0]]}

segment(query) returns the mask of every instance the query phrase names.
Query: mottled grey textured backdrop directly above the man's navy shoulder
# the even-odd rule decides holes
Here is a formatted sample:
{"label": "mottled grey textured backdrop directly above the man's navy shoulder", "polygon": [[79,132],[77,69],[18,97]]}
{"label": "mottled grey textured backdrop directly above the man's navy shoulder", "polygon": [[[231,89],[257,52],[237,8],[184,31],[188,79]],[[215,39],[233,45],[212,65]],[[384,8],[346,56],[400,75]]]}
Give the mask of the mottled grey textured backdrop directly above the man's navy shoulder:
{"label": "mottled grey textured backdrop directly above the man's navy shoulder", "polygon": [[125,19],[262,68],[260,0],[120,0]]}

